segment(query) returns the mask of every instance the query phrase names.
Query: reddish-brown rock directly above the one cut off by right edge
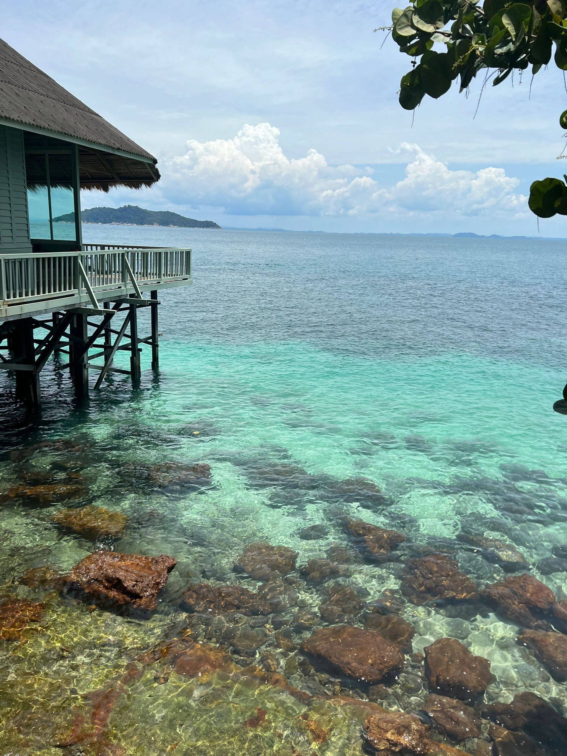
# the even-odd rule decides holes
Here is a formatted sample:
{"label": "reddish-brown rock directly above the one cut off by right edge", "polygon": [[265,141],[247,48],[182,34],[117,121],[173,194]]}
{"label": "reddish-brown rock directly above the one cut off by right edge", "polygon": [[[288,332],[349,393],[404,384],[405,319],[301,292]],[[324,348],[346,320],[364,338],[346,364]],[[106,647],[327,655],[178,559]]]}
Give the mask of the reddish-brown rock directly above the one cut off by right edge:
{"label": "reddish-brown rock directly above the one cut off by right edge", "polygon": [[503,619],[531,629],[549,629],[544,617],[555,603],[555,594],[532,575],[512,575],[487,585],[481,596]]}

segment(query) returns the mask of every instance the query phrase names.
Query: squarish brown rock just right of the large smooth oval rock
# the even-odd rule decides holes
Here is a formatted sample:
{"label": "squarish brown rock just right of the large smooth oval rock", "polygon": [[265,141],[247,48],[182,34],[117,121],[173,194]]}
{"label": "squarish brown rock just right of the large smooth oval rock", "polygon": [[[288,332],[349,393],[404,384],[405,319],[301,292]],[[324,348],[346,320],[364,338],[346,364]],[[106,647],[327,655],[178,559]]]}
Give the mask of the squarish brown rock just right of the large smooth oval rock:
{"label": "squarish brown rock just right of the large smooth oval rock", "polygon": [[494,679],[490,662],[472,654],[455,638],[440,638],[424,649],[429,688],[464,701],[485,692]]}

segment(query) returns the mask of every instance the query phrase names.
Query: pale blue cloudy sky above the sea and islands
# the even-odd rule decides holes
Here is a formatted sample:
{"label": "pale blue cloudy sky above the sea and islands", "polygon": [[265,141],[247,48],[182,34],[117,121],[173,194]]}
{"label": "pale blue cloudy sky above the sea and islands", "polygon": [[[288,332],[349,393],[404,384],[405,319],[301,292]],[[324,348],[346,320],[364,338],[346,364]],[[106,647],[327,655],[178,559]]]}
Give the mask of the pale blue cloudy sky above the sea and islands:
{"label": "pale blue cloudy sky above the sea and islands", "polygon": [[[0,0],[2,38],[149,150],[150,189],[85,192],[222,226],[567,237],[531,214],[531,181],[562,176],[554,67],[398,104],[411,59],[393,3]],[[403,4],[402,4],[403,7]],[[384,44],[383,44],[384,42]],[[383,45],[383,46],[382,46]],[[531,91],[530,91],[531,84]]]}

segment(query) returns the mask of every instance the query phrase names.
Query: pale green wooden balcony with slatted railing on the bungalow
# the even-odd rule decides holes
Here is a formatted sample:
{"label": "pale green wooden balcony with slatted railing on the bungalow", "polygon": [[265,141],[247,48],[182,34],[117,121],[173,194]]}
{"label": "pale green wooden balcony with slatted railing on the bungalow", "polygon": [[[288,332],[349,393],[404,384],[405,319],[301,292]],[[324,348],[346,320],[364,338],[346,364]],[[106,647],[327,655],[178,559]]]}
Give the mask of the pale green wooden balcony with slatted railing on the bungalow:
{"label": "pale green wooden balcony with slatted railing on the bungalow", "polygon": [[0,254],[0,321],[186,286],[191,249],[83,244],[76,252]]}

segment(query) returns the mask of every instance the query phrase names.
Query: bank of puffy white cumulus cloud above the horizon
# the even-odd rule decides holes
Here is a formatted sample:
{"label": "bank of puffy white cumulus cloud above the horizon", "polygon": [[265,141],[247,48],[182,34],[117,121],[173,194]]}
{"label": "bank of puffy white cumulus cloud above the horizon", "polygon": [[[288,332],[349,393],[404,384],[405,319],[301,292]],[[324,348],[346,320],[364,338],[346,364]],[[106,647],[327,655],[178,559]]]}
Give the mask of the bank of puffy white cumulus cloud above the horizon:
{"label": "bank of puffy white cumulus cloud above the horizon", "polygon": [[417,144],[402,144],[395,160],[408,160],[405,177],[381,187],[373,170],[329,166],[317,150],[288,158],[280,132],[269,123],[244,125],[232,139],[187,142],[187,152],[166,162],[166,201],[209,206],[230,215],[440,215],[519,217],[527,200],[517,178],[501,168],[449,169]]}

